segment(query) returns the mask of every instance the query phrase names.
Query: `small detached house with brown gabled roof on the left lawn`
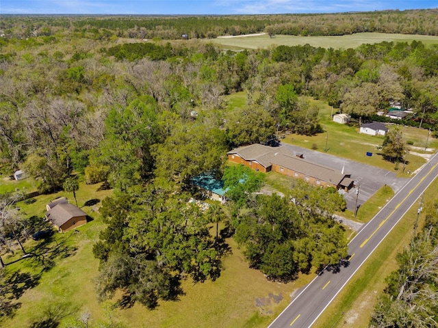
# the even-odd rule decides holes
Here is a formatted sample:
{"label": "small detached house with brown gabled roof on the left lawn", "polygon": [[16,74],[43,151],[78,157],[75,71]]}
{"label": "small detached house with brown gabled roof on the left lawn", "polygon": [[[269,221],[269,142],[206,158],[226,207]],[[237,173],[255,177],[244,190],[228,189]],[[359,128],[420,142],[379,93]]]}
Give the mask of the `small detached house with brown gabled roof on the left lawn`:
{"label": "small detached house with brown gabled roof on the left lawn", "polygon": [[67,232],[87,223],[87,214],[83,210],[73,204],[62,201],[55,204],[46,213],[46,217],[60,232]]}

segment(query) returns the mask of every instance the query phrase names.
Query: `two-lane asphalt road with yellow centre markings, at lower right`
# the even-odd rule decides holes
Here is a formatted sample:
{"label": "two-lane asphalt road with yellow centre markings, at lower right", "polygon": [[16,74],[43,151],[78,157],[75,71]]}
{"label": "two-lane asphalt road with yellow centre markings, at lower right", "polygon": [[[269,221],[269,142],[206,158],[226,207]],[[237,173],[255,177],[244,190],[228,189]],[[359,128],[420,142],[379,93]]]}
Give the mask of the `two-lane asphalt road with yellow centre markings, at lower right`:
{"label": "two-lane asphalt road with yellow centre markings, at lower right", "polygon": [[[420,206],[418,199],[437,176],[438,154],[435,154],[350,241],[350,258],[339,267],[327,268],[315,277],[269,328],[311,327],[407,210],[411,206]],[[327,327],[331,325],[333,323],[327,323]]]}

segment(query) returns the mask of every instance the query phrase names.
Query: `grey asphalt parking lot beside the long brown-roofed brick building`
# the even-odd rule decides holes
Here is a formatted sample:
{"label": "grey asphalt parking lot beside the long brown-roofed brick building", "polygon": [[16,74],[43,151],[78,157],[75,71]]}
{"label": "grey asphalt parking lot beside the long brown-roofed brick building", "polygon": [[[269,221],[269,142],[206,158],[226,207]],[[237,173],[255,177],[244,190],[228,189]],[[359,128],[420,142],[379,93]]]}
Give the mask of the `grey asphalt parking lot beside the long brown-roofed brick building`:
{"label": "grey asphalt parking lot beside the long brown-roofed brick building", "polygon": [[[326,167],[337,169],[342,172],[351,174],[352,180],[355,180],[355,188],[350,189],[344,194],[344,198],[347,202],[347,208],[354,211],[357,204],[361,205],[366,202],[378,189],[387,184],[397,193],[404,184],[407,184],[409,178],[397,178],[396,174],[386,169],[381,169],[371,165],[352,161],[350,159],[343,159],[341,157],[326,154],[324,152],[317,152],[315,150],[309,150],[307,148],[301,148],[298,146],[289,145],[287,143],[281,143],[281,146],[293,153],[303,154],[304,159],[314,163],[320,163]],[[359,190],[359,193],[357,191]]]}

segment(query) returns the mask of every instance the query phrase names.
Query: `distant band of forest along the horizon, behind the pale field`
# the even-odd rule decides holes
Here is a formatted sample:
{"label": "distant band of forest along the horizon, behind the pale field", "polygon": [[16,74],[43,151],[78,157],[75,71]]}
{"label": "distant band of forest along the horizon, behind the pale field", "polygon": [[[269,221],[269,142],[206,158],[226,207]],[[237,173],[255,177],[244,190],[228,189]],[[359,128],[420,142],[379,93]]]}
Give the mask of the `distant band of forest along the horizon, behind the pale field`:
{"label": "distant band of forest along the horizon, behind the pale field", "polygon": [[[12,37],[53,36],[75,31],[78,36],[124,38],[216,38],[266,32],[294,36],[343,36],[361,32],[438,35],[436,9],[350,12],[345,14],[277,14],[242,16],[14,16],[3,15],[0,29]],[[18,23],[19,22],[19,23]]]}

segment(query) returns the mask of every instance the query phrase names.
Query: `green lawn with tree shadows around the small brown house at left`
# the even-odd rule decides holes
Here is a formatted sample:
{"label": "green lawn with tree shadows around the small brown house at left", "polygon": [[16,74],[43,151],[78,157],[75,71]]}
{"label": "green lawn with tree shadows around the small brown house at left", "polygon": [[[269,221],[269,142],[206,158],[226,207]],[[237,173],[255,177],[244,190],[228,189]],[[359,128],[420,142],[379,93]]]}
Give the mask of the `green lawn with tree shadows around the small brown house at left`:
{"label": "green lawn with tree shadows around the small brown house at left", "polygon": [[[30,179],[23,181],[26,180]],[[3,188],[0,192],[4,192]],[[25,250],[40,256],[21,259],[23,253],[19,249],[14,255],[3,254],[7,264],[18,260],[8,265],[7,272],[15,272],[16,276],[28,273],[36,286],[25,290],[18,299],[20,306],[15,316],[1,322],[1,327],[52,327],[44,324],[62,322],[70,316],[77,318],[85,310],[90,311],[94,320],[103,318],[94,293],[93,279],[98,273],[99,262],[92,255],[92,245],[103,228],[98,208],[101,200],[109,195],[112,191],[101,190],[101,184],[81,183],[77,191],[78,206],[90,216],[85,226],[77,228],[77,232],[55,233],[47,241],[29,239],[24,244]],[[25,217],[43,219],[46,204],[61,196],[75,204],[73,195],[59,192],[39,195],[32,198],[34,202],[19,202],[18,206]],[[84,206],[86,202],[89,206]]]}

